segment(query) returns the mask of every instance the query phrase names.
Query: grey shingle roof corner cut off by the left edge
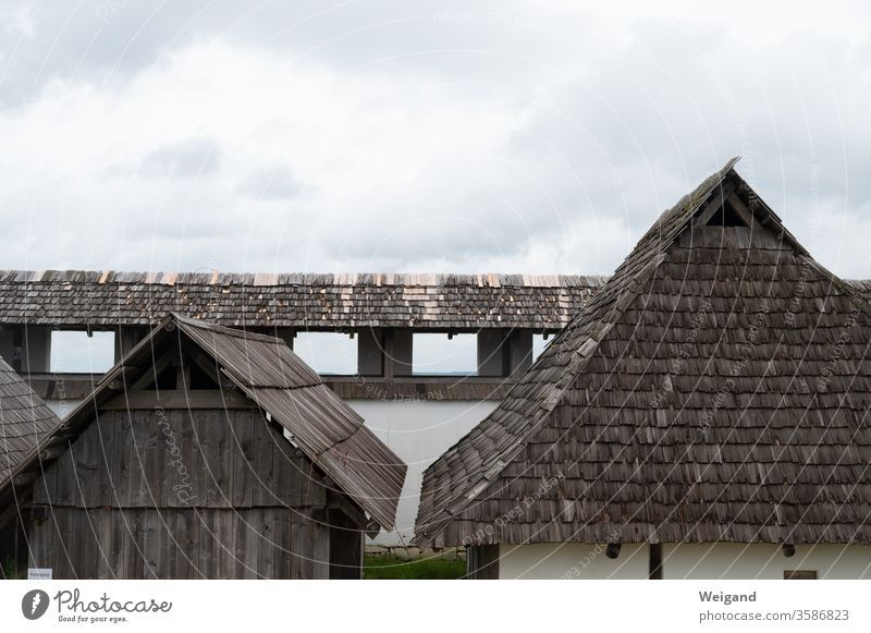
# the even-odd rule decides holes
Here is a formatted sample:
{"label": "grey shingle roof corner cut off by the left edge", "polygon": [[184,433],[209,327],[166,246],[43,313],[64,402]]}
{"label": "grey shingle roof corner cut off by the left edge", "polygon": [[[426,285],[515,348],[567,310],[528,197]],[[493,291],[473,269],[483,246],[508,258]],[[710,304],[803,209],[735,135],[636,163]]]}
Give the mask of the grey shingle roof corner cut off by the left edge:
{"label": "grey shingle roof corner cut off by the left edge", "polygon": [[61,424],[24,378],[0,358],[0,487]]}

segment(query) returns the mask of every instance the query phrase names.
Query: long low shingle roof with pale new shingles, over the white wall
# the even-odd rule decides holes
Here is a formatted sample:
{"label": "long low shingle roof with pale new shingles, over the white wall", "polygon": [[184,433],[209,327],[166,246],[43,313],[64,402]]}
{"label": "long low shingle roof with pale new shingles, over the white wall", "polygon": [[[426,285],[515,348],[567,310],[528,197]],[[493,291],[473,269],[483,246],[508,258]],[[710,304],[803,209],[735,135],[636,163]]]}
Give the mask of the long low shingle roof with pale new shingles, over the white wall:
{"label": "long low shingle roof with pale new shingles, over the white wall", "polygon": [[557,330],[603,280],[543,275],[0,271],[0,324]]}

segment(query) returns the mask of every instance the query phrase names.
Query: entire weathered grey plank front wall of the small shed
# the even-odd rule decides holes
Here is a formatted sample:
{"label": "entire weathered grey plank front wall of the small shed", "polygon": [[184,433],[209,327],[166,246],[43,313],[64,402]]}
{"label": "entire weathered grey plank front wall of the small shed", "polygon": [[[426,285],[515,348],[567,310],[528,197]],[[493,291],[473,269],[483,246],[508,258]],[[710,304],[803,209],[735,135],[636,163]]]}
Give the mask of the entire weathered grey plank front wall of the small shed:
{"label": "entire weathered grey plank front wall of the small shed", "polygon": [[257,410],[101,411],[34,485],[56,579],[329,577],[328,491]]}

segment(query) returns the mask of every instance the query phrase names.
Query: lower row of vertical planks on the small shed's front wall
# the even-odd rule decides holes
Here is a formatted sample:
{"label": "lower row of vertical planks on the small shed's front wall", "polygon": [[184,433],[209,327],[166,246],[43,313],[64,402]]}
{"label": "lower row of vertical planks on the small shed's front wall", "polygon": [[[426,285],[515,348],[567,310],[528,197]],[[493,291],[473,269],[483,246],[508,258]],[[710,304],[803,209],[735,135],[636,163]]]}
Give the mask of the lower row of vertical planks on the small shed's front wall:
{"label": "lower row of vertical planks on the small shed's front wall", "polygon": [[279,508],[60,507],[30,534],[29,565],[56,579],[327,579],[329,563],[330,529]]}

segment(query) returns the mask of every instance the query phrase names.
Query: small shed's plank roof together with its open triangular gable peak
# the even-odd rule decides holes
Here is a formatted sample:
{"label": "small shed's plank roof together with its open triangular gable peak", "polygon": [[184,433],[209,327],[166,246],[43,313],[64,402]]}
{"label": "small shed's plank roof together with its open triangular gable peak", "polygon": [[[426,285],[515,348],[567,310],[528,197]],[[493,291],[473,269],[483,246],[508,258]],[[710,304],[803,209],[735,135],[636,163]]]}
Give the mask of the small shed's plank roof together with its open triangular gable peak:
{"label": "small shed's plank roof together with its open triangular gable peak", "polygon": [[[369,514],[367,529],[394,525],[405,464],[317,373],[281,339],[177,315],[163,319],[107,372],[64,424],[41,439],[41,454],[61,457],[101,412],[155,407],[259,409],[319,471],[312,472],[319,485]],[[16,473],[37,473],[45,461],[35,452]]]}

